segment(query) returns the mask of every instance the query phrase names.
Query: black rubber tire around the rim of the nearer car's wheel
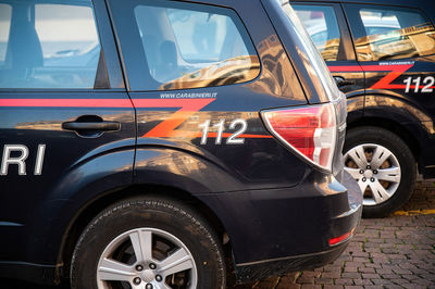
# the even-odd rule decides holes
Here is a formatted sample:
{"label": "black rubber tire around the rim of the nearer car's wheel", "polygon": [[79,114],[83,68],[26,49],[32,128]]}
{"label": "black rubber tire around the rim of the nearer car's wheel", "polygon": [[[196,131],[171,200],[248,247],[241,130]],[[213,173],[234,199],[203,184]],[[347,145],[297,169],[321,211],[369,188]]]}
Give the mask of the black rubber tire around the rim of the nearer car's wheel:
{"label": "black rubber tire around the rim of the nearer car's wheel", "polygon": [[[101,265],[101,263],[99,263],[100,257],[108,251],[108,244],[112,244],[116,240],[120,240],[121,237],[125,236],[125,234],[128,235],[130,231],[135,230],[161,230],[176,237],[183,243],[184,248],[188,249],[187,252],[192,256],[192,264],[196,265],[197,272],[197,288],[225,288],[226,267],[222,246],[216,234],[200,215],[195,213],[187,205],[175,200],[158,197],[123,200],[105,209],[89,223],[79,237],[73,253],[71,264],[72,288],[99,288],[98,276],[102,275],[97,276],[97,268]],[[133,265],[133,267],[137,268],[139,262],[136,260],[130,236],[132,235],[128,235],[126,240],[123,241],[123,244],[120,244],[121,249],[116,249],[114,251],[115,253],[109,257],[113,257],[120,262],[122,260],[122,263]],[[116,237],[120,238],[115,240]],[[157,255],[160,255],[161,260],[164,260],[164,257],[173,254],[173,252],[176,252],[176,250],[183,247],[177,249],[175,246],[175,249],[167,249],[167,251],[165,251],[166,248],[171,248],[171,242],[165,243],[167,238],[161,238],[161,236],[152,233],[151,248],[152,256],[156,257],[156,260]],[[159,244],[160,248],[158,248]],[[129,261],[126,261],[126,257],[128,257],[127,252],[132,251],[133,255],[130,255],[134,256],[133,261],[132,256]],[[164,255],[163,257],[162,254]],[[157,262],[158,266],[160,264],[159,262]],[[144,261],[141,265],[144,265],[146,269],[152,268],[150,263],[146,261]],[[154,265],[152,264],[152,266]],[[99,268],[101,268],[101,266]],[[146,269],[142,269],[144,274]],[[159,274],[158,269],[159,267],[156,269],[156,274]],[[194,278],[191,277],[191,271],[194,269],[195,268],[187,269],[184,273],[177,273],[182,274],[182,277],[178,275],[171,275],[169,278],[163,277],[163,281],[173,281],[173,279],[177,280],[177,278],[181,278],[182,281],[177,280],[177,285],[184,281],[185,287],[182,286],[177,288],[190,288],[191,286],[186,285],[186,282],[189,282],[189,277],[186,276],[190,275],[191,281]],[[139,276],[142,277],[142,281],[146,281],[146,277],[140,274]],[[152,281],[157,282],[158,276],[154,275]],[[102,284],[104,284],[107,288],[128,288],[128,285],[125,282],[103,281]],[[122,285],[124,285],[124,287],[122,287]],[[157,286],[154,286],[154,288],[157,288]]]}

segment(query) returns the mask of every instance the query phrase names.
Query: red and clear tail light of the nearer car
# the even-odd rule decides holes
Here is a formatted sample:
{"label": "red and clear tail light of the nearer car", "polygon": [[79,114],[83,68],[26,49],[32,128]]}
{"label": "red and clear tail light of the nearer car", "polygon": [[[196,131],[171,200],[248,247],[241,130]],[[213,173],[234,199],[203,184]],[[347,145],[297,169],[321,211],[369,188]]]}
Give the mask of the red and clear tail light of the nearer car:
{"label": "red and clear tail light of the nearer car", "polygon": [[336,141],[334,104],[262,112],[270,131],[311,163],[331,171]]}

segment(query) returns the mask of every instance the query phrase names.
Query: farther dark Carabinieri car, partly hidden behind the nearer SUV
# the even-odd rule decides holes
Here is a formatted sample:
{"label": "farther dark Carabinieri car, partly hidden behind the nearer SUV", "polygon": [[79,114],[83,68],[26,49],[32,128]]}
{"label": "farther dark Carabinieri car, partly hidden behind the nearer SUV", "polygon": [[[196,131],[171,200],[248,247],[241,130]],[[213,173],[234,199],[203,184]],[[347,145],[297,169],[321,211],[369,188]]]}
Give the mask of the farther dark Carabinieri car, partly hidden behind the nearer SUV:
{"label": "farther dark Carabinieri car, partly hidden behind the nearer SUV", "polygon": [[363,191],[363,215],[385,216],[410,198],[417,173],[435,177],[435,5],[420,0],[291,5],[346,92],[345,169]]}

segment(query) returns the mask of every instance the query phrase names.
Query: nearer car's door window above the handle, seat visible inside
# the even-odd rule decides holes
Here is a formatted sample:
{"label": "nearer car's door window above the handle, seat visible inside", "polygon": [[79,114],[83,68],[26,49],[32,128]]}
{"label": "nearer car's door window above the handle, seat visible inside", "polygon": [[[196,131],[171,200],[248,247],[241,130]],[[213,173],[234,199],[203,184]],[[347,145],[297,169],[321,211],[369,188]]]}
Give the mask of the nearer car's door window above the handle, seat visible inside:
{"label": "nearer car's door window above the handle, seat visible inside", "polygon": [[0,7],[0,88],[94,88],[100,43],[91,1],[8,2],[9,38]]}

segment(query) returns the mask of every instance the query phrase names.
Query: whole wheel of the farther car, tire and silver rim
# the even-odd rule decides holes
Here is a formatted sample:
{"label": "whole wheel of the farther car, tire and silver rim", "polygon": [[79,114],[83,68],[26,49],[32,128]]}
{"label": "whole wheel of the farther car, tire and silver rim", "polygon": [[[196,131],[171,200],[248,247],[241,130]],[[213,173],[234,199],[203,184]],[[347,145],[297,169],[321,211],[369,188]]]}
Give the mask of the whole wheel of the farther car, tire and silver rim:
{"label": "whole wheel of the farther car, tire and silver rim", "polygon": [[415,161],[396,134],[380,127],[350,129],[344,146],[345,169],[358,181],[363,198],[363,217],[384,217],[411,197]]}

